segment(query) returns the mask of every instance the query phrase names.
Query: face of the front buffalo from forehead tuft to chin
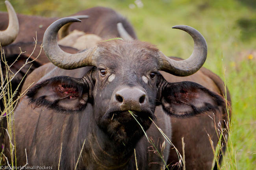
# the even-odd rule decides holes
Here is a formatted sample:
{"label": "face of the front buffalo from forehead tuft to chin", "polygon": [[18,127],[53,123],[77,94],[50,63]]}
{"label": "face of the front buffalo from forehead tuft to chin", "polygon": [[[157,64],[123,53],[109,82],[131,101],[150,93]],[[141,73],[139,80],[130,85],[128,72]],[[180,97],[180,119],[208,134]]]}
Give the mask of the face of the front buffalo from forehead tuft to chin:
{"label": "face of the front buffalo from forehead tuft to chin", "polygon": [[134,48],[134,43],[99,43],[102,58],[95,70],[93,97],[97,123],[115,141],[125,144],[137,141],[143,134],[137,121],[145,130],[150,127],[157,96],[157,78],[150,77],[158,71],[157,60],[152,58],[156,49],[148,44],[145,48],[140,42]]}

